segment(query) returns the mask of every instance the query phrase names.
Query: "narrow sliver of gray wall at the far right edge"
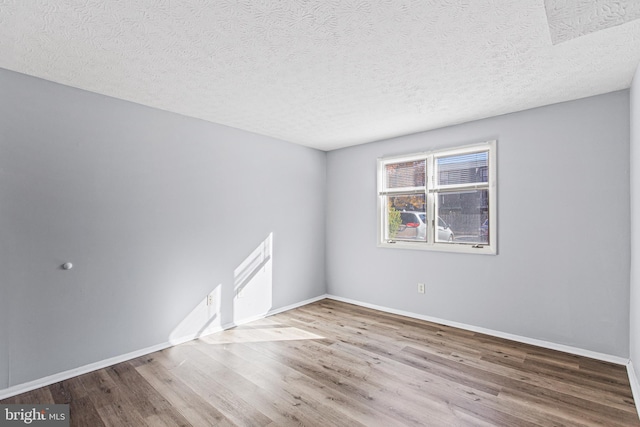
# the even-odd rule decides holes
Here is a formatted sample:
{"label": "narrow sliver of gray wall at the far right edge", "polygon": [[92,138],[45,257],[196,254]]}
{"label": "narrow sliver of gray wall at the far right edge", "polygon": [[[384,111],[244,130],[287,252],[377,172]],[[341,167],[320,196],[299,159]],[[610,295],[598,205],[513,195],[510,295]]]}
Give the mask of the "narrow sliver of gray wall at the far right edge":
{"label": "narrow sliver of gray wall at the far right edge", "polygon": [[[640,67],[630,90],[631,104],[631,297],[630,358],[640,375]],[[640,377],[638,378],[640,381]]]}

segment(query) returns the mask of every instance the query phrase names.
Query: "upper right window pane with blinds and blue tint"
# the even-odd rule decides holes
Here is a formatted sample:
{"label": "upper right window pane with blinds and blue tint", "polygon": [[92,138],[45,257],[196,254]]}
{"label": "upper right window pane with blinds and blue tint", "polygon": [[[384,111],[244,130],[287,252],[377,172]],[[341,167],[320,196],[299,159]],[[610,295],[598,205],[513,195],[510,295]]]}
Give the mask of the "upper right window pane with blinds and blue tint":
{"label": "upper right window pane with blinds and blue tint", "polygon": [[438,157],[438,185],[488,182],[488,152]]}

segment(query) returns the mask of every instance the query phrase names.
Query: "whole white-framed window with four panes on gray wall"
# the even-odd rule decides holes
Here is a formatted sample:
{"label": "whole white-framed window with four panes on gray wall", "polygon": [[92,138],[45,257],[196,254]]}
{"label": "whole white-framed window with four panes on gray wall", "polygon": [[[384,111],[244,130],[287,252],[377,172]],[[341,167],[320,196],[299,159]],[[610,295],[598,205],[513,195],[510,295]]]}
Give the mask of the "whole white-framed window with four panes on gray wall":
{"label": "whole white-framed window with four panes on gray wall", "polygon": [[378,159],[379,245],[495,254],[496,142]]}

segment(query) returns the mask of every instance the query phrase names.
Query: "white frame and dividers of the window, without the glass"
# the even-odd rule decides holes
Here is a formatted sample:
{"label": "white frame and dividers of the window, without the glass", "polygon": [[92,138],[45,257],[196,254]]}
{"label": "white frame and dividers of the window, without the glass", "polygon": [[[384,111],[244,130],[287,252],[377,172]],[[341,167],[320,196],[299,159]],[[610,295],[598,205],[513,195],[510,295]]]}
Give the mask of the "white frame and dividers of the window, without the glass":
{"label": "white frame and dividers of the window, without the glass", "polygon": [[[437,185],[436,176],[438,171],[436,159],[452,155],[471,154],[474,152],[488,151],[488,182],[487,183],[471,183],[471,184],[454,184],[454,185]],[[428,151],[422,153],[414,153],[402,156],[381,157],[378,158],[378,247],[394,248],[394,249],[415,249],[440,252],[458,252],[473,253],[484,255],[496,255],[498,253],[497,245],[497,174],[496,174],[496,141],[486,141],[480,144],[466,145],[462,147],[454,147],[436,151]],[[412,162],[416,160],[426,160],[426,180],[425,185],[420,187],[405,187],[402,189],[384,188],[385,166],[387,164]],[[489,197],[489,243],[449,243],[435,241],[435,225],[438,193],[440,190],[456,190],[456,189],[483,189],[488,191]],[[402,241],[402,240],[385,240],[386,232],[386,197],[394,194],[425,194],[427,205],[427,241]]]}

